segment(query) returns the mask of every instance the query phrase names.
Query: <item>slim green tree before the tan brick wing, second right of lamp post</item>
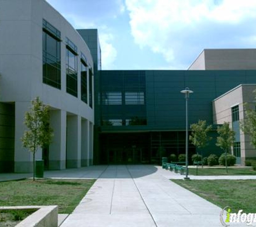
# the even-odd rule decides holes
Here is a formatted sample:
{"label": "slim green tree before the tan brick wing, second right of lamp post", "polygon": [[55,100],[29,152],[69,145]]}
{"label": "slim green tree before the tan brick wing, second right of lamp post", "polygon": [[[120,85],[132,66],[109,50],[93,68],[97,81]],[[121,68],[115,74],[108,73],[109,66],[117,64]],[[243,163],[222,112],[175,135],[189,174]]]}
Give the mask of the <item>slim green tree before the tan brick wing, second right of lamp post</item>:
{"label": "slim green tree before the tan brick wing, second right of lamp post", "polygon": [[228,122],[224,122],[222,126],[218,126],[217,132],[219,136],[217,137],[216,146],[219,146],[225,152],[225,166],[227,173],[227,153],[233,145],[235,132],[230,129],[230,124]]}

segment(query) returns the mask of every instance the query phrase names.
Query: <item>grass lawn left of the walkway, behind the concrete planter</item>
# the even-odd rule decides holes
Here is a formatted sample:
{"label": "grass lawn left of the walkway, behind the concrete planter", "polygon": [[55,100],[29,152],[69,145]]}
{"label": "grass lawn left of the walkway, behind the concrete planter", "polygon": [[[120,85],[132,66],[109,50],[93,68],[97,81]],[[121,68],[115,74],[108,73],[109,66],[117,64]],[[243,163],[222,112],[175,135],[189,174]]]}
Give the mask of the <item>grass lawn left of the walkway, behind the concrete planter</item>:
{"label": "grass lawn left of the walkway, behind the concrete planter", "polygon": [[36,180],[0,182],[0,206],[58,205],[60,214],[70,214],[95,180]]}

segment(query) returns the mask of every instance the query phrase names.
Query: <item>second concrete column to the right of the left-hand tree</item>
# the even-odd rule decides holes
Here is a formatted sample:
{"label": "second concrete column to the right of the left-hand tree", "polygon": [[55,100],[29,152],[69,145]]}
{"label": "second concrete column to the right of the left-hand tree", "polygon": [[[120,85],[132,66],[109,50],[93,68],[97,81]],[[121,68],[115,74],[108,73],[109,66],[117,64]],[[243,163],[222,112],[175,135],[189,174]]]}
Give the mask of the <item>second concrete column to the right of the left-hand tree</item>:
{"label": "second concrete column to the right of the left-hand tree", "polygon": [[81,125],[80,117],[77,115],[67,116],[67,168],[78,168],[81,165],[81,151],[79,151],[79,149],[81,150],[81,126],[79,124]]}

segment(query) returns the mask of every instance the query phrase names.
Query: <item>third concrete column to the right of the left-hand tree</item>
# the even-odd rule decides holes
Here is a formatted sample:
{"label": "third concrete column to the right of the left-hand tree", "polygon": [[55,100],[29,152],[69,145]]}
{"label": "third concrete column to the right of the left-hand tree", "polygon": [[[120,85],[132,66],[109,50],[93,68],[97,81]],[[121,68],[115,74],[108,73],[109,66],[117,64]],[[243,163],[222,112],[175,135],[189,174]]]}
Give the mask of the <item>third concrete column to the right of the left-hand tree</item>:
{"label": "third concrete column to the right of the left-hand tree", "polygon": [[82,119],[82,130],[81,130],[81,166],[89,166],[89,125],[88,120]]}

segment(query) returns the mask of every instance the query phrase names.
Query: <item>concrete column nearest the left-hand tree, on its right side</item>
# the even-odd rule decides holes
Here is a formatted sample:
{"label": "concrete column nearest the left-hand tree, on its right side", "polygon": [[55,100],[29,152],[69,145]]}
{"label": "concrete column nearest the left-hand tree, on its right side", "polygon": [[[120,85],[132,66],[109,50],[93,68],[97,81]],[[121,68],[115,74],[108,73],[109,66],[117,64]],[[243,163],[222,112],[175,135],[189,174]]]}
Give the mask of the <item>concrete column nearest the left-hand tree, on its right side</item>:
{"label": "concrete column nearest the left-hand tree, on its right side", "polygon": [[50,111],[50,126],[54,136],[49,146],[49,169],[66,168],[66,115],[64,110]]}

